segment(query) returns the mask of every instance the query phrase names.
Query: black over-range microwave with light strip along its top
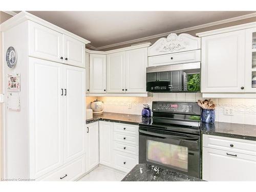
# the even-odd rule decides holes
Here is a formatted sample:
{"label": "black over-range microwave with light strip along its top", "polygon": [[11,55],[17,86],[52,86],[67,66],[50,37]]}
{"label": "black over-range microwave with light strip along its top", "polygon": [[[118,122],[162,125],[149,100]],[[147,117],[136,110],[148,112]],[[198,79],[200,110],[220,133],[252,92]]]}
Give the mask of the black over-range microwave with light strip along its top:
{"label": "black over-range microwave with light strip along its top", "polygon": [[200,62],[148,67],[147,92],[200,92]]}

